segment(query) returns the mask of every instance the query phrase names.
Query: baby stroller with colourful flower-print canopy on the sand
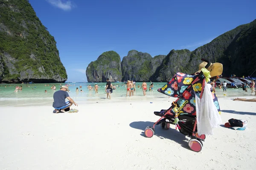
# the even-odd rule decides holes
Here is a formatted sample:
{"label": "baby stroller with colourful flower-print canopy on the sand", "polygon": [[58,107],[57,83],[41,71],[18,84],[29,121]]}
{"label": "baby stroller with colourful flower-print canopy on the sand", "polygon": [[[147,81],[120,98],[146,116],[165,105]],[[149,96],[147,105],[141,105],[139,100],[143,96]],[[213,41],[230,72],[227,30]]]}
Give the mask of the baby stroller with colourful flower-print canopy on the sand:
{"label": "baby stroller with colourful flower-print canopy on the sand", "polygon": [[[202,59],[207,62],[205,68],[210,66],[210,62],[207,59]],[[177,100],[172,103],[169,109],[162,109],[160,112],[154,112],[155,115],[161,118],[154,123],[153,127],[146,127],[145,136],[151,138],[154,135],[155,125],[160,124],[163,129],[169,129],[170,124],[175,124],[180,133],[188,135],[189,148],[195,152],[200,152],[203,147],[203,141],[206,138],[205,135],[198,135],[197,119],[196,119],[196,107],[195,107],[195,95],[198,98],[202,98],[204,93],[205,75],[201,71],[198,75],[188,75],[177,72],[171,80],[169,80],[162,88],[158,89],[158,92],[163,94],[177,97]],[[212,98],[215,107],[220,113],[220,107],[218,99],[215,93],[212,93]],[[177,110],[175,110],[177,106]],[[178,122],[175,122],[175,111],[178,115]]]}

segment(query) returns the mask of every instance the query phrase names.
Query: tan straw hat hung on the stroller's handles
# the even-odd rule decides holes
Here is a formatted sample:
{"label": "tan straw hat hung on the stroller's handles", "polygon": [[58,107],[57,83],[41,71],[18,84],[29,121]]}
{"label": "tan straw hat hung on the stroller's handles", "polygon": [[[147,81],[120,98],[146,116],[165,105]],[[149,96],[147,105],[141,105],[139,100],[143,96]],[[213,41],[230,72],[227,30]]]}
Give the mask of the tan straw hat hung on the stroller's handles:
{"label": "tan straw hat hung on the stroller's handles", "polygon": [[[202,62],[199,64],[199,70],[196,73],[201,72],[201,69],[204,68],[207,65],[207,62]],[[219,76],[222,74],[223,71],[223,65],[221,63],[211,63],[211,65],[207,69],[210,71],[211,77]]]}

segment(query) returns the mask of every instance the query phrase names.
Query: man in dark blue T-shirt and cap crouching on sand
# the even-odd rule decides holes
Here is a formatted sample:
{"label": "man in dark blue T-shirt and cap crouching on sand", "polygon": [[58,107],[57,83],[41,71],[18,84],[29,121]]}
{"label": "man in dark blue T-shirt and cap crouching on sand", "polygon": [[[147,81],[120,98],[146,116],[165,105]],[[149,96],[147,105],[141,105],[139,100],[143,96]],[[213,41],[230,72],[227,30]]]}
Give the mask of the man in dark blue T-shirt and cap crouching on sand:
{"label": "man in dark blue T-shirt and cap crouching on sand", "polygon": [[[73,104],[78,106],[76,102],[73,101],[72,98],[68,95],[66,92],[68,89],[67,86],[61,86],[61,89],[53,94],[53,104],[52,107],[54,107],[56,110],[56,113],[58,112],[65,112],[65,109],[69,108]],[[69,101],[65,101],[65,99],[68,99]]]}

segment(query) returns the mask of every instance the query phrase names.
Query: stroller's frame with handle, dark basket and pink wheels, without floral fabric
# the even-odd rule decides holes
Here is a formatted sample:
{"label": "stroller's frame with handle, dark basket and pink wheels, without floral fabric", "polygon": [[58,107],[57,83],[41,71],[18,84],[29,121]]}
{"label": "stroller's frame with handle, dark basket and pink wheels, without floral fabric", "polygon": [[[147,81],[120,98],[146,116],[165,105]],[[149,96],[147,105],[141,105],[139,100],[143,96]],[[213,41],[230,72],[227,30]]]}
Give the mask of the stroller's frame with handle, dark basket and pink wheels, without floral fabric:
{"label": "stroller's frame with handle, dark basket and pink wheels, without floral fabric", "polygon": [[[205,61],[207,62],[207,65],[205,66],[205,68],[207,69],[209,66],[210,66],[210,61],[207,60],[207,59],[201,59],[202,61]],[[203,72],[201,71],[197,77],[195,78],[195,80],[192,81],[191,84],[189,84],[189,86],[182,92],[182,94],[180,96],[183,96],[184,92],[186,91],[189,91],[192,87],[193,84],[195,84],[197,81],[199,81],[201,75],[203,75]],[[201,90],[201,94],[200,94],[200,98],[202,98],[202,95],[203,95],[203,92],[204,92],[204,81],[203,81],[203,86],[202,86],[202,90]],[[169,107],[169,109],[162,109],[160,112],[154,112],[155,115],[158,115],[158,116],[161,116],[160,119],[158,119],[154,124],[153,124],[153,127],[151,126],[148,126],[145,128],[145,136],[148,137],[148,138],[151,138],[153,135],[154,135],[154,130],[155,130],[155,125],[158,125],[158,124],[161,124],[161,127],[166,130],[168,130],[170,128],[170,124],[174,124],[174,112],[172,111],[172,109],[175,107],[175,104],[177,104],[177,101],[180,99],[181,97],[177,96],[177,100],[172,102],[172,106]],[[183,99],[183,98],[181,98]],[[178,105],[178,104],[177,104]],[[182,113],[180,113],[180,115],[178,116],[178,118],[180,120],[186,120],[186,123],[189,122],[190,124],[190,121],[192,122],[192,127],[189,127],[186,125],[186,123],[184,123],[184,121],[179,121],[178,122],[178,125],[180,126],[179,127],[179,130],[180,128],[182,127],[183,128],[183,132],[180,130],[180,133],[183,133],[184,135],[188,135],[189,138],[191,138],[188,142],[189,144],[189,147],[191,150],[195,151],[195,152],[200,152],[203,148],[203,142],[204,139],[206,138],[205,135],[198,135],[198,133],[196,132],[196,124],[197,124],[197,120],[196,120],[196,115],[184,115]],[[169,121],[166,121],[166,119]]]}

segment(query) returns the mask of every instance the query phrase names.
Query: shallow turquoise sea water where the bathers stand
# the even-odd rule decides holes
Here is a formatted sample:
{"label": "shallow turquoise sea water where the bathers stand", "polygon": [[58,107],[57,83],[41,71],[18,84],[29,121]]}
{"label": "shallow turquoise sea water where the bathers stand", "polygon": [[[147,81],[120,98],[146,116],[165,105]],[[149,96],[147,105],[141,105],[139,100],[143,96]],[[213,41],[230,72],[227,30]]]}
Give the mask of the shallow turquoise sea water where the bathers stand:
{"label": "shallow turquoise sea water where the bathers stand", "polygon": [[[153,82],[154,83],[154,82]],[[65,85],[68,83],[62,83],[61,85]],[[113,90],[111,94],[111,100],[106,99],[105,93],[105,85],[106,83],[97,83],[99,86],[99,90],[97,94],[95,91],[89,91],[87,89],[88,85],[94,86],[94,83],[70,83],[72,86],[69,86],[70,92],[69,95],[73,100],[78,104],[90,104],[95,102],[125,102],[125,101],[159,101],[159,100],[168,100],[168,96],[164,95],[160,92],[157,92],[157,89],[161,88],[166,83],[154,83],[153,92],[149,90],[146,92],[146,96],[143,96],[143,91],[140,88],[136,88],[134,92],[134,96],[126,97],[126,89],[123,83],[114,83],[113,85],[118,84],[119,86],[116,90]],[[136,83],[136,86],[142,83]],[[148,82],[148,88],[151,83]],[[5,85],[7,87],[5,87]],[[23,90],[19,92],[14,92],[15,87],[17,85],[22,85]],[[53,93],[54,90],[51,90],[50,87],[53,84],[49,84],[49,86],[45,86],[45,84],[0,84],[0,106],[44,106],[44,105],[52,105],[53,102]],[[46,84],[47,85],[47,84]],[[60,84],[55,84],[56,90],[60,89]],[[79,86],[82,88],[79,88]],[[123,85],[123,86],[122,86]],[[79,92],[76,92],[76,87],[79,88]],[[33,88],[33,89],[32,89]],[[84,92],[80,92],[82,89]],[[44,92],[47,90],[47,93]],[[251,95],[250,89],[248,92],[244,92],[240,89],[227,89],[227,92],[223,92],[223,89],[216,88],[216,94],[218,98],[225,97],[236,97],[236,96],[253,96]],[[225,94],[225,95],[224,95]]]}

